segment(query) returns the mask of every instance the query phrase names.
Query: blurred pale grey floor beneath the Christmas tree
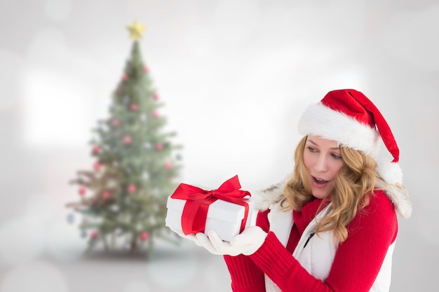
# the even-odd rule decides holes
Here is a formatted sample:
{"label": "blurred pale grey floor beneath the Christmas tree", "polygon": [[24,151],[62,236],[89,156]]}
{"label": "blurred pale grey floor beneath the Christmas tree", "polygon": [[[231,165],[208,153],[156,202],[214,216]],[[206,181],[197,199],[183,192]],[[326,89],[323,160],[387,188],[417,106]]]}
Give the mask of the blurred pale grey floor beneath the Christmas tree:
{"label": "blurred pale grey floor beneath the Christmas tree", "polygon": [[0,263],[0,284],[1,292],[231,291],[222,257],[189,241],[157,245],[149,260],[95,252],[40,256],[15,267]]}

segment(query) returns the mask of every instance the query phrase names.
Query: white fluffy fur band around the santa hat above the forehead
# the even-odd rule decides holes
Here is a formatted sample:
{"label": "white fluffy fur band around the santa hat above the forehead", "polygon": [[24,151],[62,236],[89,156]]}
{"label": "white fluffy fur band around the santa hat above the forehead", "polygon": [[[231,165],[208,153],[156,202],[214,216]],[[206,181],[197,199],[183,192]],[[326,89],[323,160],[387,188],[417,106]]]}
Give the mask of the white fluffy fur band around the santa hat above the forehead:
{"label": "white fluffy fur band around the santa hat above the forehead", "polygon": [[363,151],[375,157],[379,148],[379,134],[368,125],[334,111],[321,102],[311,104],[302,114],[298,124],[299,133],[313,134],[339,145]]}

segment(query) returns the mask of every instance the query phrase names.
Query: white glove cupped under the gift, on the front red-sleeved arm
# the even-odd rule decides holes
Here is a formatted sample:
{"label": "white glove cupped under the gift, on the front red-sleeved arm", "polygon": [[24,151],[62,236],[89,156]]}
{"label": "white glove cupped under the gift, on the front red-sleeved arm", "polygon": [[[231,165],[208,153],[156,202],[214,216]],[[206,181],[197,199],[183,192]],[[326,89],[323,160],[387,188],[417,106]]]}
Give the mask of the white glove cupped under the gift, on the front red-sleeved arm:
{"label": "white glove cupped under the gift, on the front red-sleeved arm", "polygon": [[210,253],[219,255],[238,256],[243,254],[250,256],[262,246],[266,238],[266,232],[258,226],[245,229],[241,234],[235,235],[230,242],[223,242],[213,230],[208,231],[208,236],[197,233],[199,246],[203,246]]}

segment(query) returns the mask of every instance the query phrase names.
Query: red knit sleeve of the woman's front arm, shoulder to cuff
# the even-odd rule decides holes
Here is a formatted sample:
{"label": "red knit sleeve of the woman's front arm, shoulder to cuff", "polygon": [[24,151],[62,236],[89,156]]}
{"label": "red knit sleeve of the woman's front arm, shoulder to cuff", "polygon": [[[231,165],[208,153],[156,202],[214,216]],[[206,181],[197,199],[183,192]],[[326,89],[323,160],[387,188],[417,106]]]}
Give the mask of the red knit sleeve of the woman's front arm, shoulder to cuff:
{"label": "red knit sleeve of the woman's front arm, shoulder to cuff", "polygon": [[369,291],[398,232],[389,198],[377,191],[348,231],[349,237],[339,245],[325,282],[306,272],[273,232],[250,258],[284,292]]}

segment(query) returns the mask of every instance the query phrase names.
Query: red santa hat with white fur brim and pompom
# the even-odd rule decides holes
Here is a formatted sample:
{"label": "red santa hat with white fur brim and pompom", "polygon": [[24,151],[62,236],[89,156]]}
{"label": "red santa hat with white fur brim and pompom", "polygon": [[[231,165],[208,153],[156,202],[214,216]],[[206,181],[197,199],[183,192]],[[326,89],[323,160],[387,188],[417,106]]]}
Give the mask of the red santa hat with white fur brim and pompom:
{"label": "red santa hat with white fur brim and pompom", "polygon": [[378,161],[377,173],[387,183],[402,183],[398,165],[399,148],[389,125],[363,93],[333,90],[318,104],[311,104],[299,120],[299,133],[313,134],[337,141],[339,145],[363,151],[377,159],[379,139],[384,142],[392,161]]}

